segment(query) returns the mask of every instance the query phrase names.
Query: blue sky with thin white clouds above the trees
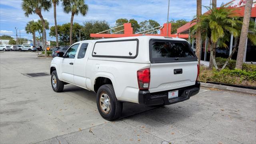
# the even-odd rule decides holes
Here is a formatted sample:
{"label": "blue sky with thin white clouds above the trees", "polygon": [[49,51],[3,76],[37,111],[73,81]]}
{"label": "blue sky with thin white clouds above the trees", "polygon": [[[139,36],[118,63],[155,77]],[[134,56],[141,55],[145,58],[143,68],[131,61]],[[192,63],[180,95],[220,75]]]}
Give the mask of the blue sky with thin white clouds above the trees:
{"label": "blue sky with thin white clouds above the trees", "polygon": [[[203,6],[209,6],[211,0],[202,0]],[[217,6],[230,0],[217,0]],[[30,20],[38,20],[36,14],[28,18],[21,9],[22,0],[0,0],[0,35],[7,34],[16,37],[15,27],[20,30],[22,38],[32,39],[31,34],[26,34],[25,26]],[[110,26],[115,25],[118,18],[134,18],[138,22],[156,20],[162,25],[167,20],[168,0],[85,0],[89,6],[86,16],[75,16],[74,22],[83,24],[87,20],[106,20]],[[202,12],[206,12],[203,7]],[[45,19],[54,25],[53,8],[50,12],[42,12]],[[196,0],[170,0],[169,19],[192,20],[196,15]],[[57,24],[70,22],[71,14],[63,12],[61,4],[57,7]],[[48,40],[55,40],[47,32]]]}

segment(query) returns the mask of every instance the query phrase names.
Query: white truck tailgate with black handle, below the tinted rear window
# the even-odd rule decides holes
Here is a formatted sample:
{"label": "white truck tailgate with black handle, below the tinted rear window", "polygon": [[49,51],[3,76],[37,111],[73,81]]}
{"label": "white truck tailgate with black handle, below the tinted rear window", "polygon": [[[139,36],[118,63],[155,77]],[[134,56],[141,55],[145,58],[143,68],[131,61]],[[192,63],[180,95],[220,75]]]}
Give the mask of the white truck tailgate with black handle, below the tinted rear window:
{"label": "white truck tailgate with black handle, below the tinted rear window", "polygon": [[198,62],[151,64],[149,91],[160,92],[194,85],[196,83],[197,64]]}

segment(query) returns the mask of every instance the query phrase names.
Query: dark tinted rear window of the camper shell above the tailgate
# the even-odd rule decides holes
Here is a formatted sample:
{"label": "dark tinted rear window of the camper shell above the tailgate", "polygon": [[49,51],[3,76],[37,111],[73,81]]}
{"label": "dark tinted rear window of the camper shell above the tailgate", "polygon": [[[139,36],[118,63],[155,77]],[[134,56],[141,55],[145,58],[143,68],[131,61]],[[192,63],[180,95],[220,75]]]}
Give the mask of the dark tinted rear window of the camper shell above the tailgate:
{"label": "dark tinted rear window of the camper shell above the tailgate", "polygon": [[197,61],[186,41],[151,39],[149,49],[151,63]]}

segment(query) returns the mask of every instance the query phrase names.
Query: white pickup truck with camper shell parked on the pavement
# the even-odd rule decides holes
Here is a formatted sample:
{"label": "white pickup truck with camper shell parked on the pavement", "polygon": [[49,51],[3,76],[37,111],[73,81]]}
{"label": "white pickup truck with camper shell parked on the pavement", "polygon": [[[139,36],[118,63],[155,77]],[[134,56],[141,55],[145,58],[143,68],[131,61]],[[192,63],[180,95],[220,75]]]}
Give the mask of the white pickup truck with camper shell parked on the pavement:
{"label": "white pickup truck with camper shell parked on the pavement", "polygon": [[188,42],[163,36],[76,42],[53,58],[50,74],[55,92],[65,84],[96,92],[106,120],[120,116],[123,102],[169,105],[200,90],[198,61]]}

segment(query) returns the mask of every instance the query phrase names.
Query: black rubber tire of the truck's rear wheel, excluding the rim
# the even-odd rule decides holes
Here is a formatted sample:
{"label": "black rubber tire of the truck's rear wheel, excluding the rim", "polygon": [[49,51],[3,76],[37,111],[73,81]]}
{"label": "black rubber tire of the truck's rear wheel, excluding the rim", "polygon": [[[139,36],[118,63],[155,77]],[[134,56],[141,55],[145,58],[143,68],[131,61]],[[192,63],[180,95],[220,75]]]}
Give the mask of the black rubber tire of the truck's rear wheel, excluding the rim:
{"label": "black rubber tire of the truck's rear wheel, excluding the rim", "polygon": [[[103,110],[100,106],[100,104],[102,103],[102,102],[100,102],[100,98],[103,93],[106,93],[109,97],[110,110],[108,113],[103,112]],[[119,102],[116,99],[116,94],[115,94],[114,87],[112,84],[105,84],[103,86],[100,86],[100,88],[98,89],[96,98],[97,98],[96,101],[97,101],[98,111],[100,112],[100,115],[102,116],[102,118],[104,118],[105,120],[115,120],[122,113],[123,103]]]}

